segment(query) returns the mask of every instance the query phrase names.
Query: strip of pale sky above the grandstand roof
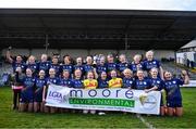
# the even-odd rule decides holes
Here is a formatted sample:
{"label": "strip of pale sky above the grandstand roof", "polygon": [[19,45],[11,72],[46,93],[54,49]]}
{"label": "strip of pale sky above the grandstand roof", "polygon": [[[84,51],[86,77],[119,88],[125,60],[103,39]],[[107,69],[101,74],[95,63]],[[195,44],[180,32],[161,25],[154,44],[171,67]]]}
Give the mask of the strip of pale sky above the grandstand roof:
{"label": "strip of pale sky above the grandstand roof", "polygon": [[0,8],[196,11],[196,0],[0,0]]}

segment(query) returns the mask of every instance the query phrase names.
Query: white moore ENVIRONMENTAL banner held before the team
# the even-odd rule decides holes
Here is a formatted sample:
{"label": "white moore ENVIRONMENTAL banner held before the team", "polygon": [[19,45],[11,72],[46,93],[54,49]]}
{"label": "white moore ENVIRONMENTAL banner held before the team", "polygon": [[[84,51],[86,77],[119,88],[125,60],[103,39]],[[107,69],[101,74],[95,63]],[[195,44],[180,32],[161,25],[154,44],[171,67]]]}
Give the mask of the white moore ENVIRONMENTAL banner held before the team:
{"label": "white moore ENVIRONMENTAL banner held before the team", "polygon": [[143,90],[131,89],[73,89],[50,85],[46,98],[47,106],[120,111],[139,114],[156,114],[160,112],[159,91],[145,93]]}

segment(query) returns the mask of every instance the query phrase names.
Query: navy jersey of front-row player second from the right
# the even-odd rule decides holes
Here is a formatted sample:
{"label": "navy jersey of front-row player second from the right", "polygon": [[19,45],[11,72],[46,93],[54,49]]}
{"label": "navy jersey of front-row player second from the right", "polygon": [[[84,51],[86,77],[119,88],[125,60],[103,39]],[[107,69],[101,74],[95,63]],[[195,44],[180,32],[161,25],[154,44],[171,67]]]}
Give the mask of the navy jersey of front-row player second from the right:
{"label": "navy jersey of front-row player second from the right", "polygon": [[149,81],[151,83],[151,87],[156,86],[159,91],[164,88],[164,81],[162,79],[160,79],[159,77],[157,77],[157,78],[149,78]]}

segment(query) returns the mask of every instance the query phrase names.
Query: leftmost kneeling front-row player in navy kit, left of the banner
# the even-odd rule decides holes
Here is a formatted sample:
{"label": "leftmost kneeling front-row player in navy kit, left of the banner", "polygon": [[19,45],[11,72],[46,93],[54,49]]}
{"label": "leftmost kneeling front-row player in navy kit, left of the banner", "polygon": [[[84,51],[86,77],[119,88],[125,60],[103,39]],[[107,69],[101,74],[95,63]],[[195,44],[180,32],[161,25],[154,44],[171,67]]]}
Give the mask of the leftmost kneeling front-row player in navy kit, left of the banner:
{"label": "leftmost kneeling front-row player in navy kit, left of the banner", "polygon": [[20,99],[20,111],[21,112],[25,112],[26,106],[27,106],[28,112],[33,112],[34,87],[35,87],[35,78],[33,77],[33,72],[30,68],[27,68],[26,76],[23,79],[23,89],[22,89],[21,99]]}

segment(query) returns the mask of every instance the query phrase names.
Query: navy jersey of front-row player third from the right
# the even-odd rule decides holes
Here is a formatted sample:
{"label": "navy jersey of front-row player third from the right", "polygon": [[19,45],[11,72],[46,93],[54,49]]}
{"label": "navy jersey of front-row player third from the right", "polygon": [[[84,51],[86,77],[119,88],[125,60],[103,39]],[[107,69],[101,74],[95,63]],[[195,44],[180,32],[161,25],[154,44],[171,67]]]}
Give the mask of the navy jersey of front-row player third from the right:
{"label": "navy jersey of front-row player third from the right", "polygon": [[150,83],[149,79],[143,79],[143,80],[136,79],[135,80],[134,89],[145,90],[145,89],[149,89],[149,88],[151,88],[151,83]]}

